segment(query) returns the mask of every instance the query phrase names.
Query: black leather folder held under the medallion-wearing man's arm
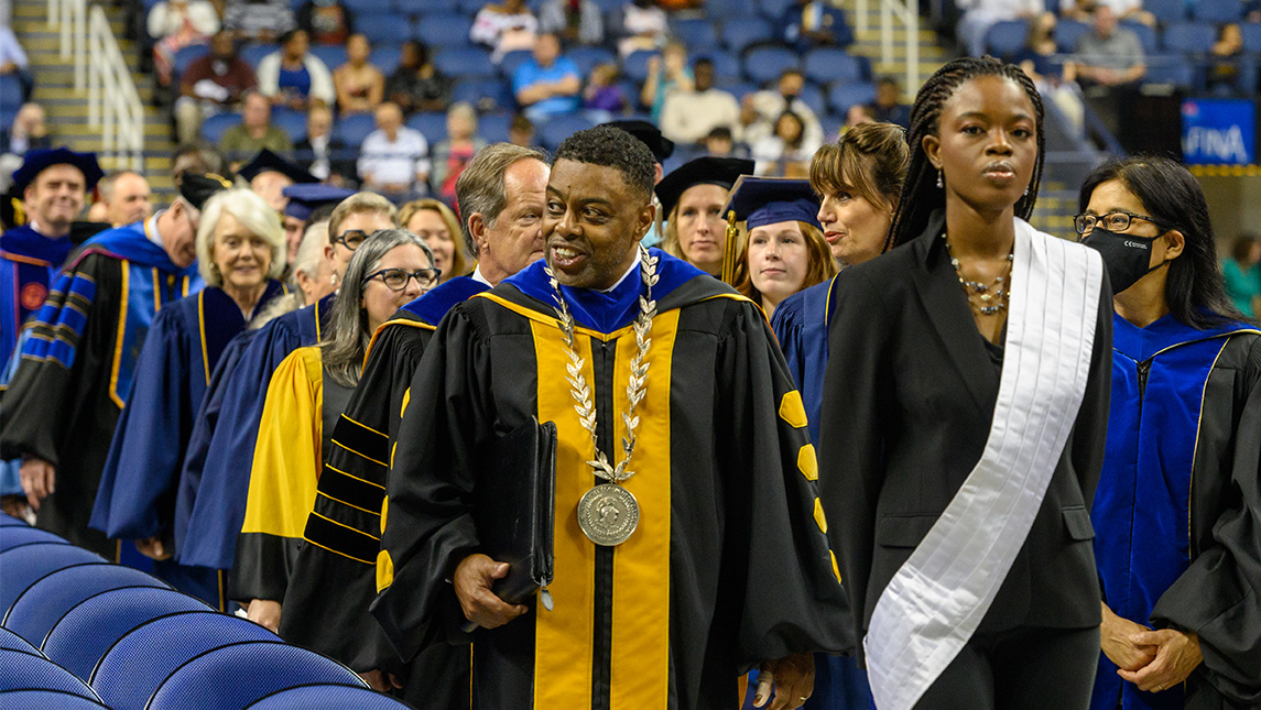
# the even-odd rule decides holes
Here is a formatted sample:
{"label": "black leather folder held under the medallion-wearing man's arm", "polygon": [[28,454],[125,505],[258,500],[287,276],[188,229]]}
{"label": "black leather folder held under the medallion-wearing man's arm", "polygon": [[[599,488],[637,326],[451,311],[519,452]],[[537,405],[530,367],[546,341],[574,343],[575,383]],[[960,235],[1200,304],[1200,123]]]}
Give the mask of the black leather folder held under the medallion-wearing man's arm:
{"label": "black leather folder held under the medallion-wearing man's arm", "polygon": [[522,604],[552,580],[556,425],[530,417],[496,441],[487,465],[474,508],[482,552],[509,565],[496,595]]}

